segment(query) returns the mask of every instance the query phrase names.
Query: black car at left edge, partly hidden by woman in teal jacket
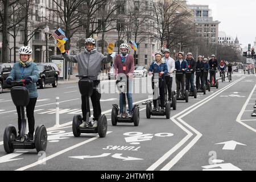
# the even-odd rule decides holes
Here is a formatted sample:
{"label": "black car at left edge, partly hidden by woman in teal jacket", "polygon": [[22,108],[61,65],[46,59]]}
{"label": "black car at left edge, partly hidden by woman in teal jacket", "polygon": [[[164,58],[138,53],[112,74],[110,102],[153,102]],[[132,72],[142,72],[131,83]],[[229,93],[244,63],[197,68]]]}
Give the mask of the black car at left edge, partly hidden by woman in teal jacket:
{"label": "black car at left edge, partly hidden by woman in teal jacket", "polygon": [[3,89],[11,88],[10,85],[6,84],[5,80],[9,76],[12,68],[13,64],[11,63],[0,64],[0,94],[3,92]]}

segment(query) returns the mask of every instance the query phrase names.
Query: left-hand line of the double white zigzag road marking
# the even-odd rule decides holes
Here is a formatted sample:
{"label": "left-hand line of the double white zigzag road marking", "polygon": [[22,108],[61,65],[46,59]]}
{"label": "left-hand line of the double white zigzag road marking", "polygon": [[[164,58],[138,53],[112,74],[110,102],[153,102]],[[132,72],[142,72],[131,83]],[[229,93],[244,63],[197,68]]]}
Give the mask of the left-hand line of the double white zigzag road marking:
{"label": "left-hand line of the double white zigzag road marking", "polygon": [[[243,78],[240,78],[239,80],[237,80],[236,82],[242,80]],[[186,113],[187,111],[193,109],[193,107],[203,103],[204,101],[208,101],[210,97],[213,97],[214,95],[218,94],[219,92],[221,92],[222,90],[224,91],[225,88],[229,88],[229,86],[232,86],[234,84],[236,84],[236,82],[233,82],[230,85],[225,86],[224,88],[222,88],[221,90],[218,90],[217,92],[213,93],[212,95],[208,96],[207,98],[204,98],[204,100],[201,100],[199,102],[197,102],[196,104],[188,107],[187,109],[181,111],[180,113],[177,113],[176,115],[174,115],[173,117],[171,117],[171,121],[173,121],[177,126],[179,126],[183,131],[185,131],[185,133],[187,133],[188,135],[183,138],[179,143],[176,144],[176,146],[174,146],[173,148],[171,148],[170,151],[166,152],[166,154],[164,154],[160,159],[158,159],[154,164],[152,164],[149,168],[146,169],[146,171],[153,171],[155,170],[158,166],[160,166],[160,164],[162,164],[166,159],[168,159],[176,150],[178,150],[185,142],[187,142],[187,140],[189,138],[192,137],[192,133],[190,131],[188,131],[187,129],[185,129],[185,127],[183,127],[179,122],[177,122],[175,120],[176,117],[178,117],[179,115]]]}

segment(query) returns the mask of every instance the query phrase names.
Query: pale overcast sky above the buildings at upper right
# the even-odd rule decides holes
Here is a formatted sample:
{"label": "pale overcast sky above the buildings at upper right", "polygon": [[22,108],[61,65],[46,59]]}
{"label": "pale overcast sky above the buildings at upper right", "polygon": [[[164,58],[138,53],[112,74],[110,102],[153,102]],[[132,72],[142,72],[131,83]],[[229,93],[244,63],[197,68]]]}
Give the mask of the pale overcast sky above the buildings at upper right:
{"label": "pale overcast sky above the buildings at upper right", "polygon": [[242,47],[253,45],[256,37],[255,0],[187,0],[188,5],[209,5],[213,20],[219,20],[219,31],[238,36]]}

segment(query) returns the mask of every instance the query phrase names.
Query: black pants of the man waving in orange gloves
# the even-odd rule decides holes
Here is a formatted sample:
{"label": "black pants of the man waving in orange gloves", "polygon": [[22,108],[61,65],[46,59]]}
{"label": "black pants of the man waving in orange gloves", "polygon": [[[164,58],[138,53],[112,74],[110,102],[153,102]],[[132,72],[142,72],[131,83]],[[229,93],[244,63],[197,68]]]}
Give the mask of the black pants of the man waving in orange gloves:
{"label": "black pants of the man waving in orange gloves", "polygon": [[[96,88],[98,86],[98,84],[100,84],[100,81],[93,81],[94,84],[94,88]],[[93,120],[97,120],[98,121],[98,117],[101,115],[101,93],[99,93],[97,91],[97,89],[93,89],[93,94],[92,96],[90,96],[90,100],[92,101],[92,105],[93,105]],[[82,96],[82,117],[85,121],[86,118],[86,114],[87,112],[90,113],[90,108],[86,108],[86,97]],[[90,114],[89,114],[90,117]]]}

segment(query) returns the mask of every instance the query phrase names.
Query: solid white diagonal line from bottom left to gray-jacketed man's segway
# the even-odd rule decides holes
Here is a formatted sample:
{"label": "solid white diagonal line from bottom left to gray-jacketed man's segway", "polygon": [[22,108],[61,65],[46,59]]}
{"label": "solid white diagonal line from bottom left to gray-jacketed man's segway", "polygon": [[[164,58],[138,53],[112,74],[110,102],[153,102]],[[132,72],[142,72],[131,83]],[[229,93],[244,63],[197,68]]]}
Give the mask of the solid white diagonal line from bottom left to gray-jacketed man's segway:
{"label": "solid white diagonal line from bottom left to gray-jacketed man's segway", "polygon": [[[110,133],[112,133],[112,131],[108,131],[108,132],[107,132],[107,134],[110,134]],[[97,136],[97,137],[93,137],[93,138],[87,139],[87,140],[85,140],[84,142],[77,143],[77,144],[75,144],[74,146],[65,148],[64,150],[61,150],[61,151],[59,151],[59,152],[56,152],[55,154],[52,154],[52,155],[50,155],[50,156],[48,156],[48,157],[46,157],[46,158],[44,158],[44,159],[42,159],[42,160],[38,160],[37,162],[32,163],[32,164],[30,164],[30,165],[28,165],[28,166],[24,166],[24,167],[18,168],[18,169],[16,169],[15,171],[24,171],[24,170],[26,170],[26,169],[28,169],[28,168],[38,166],[39,164],[42,164],[42,163],[46,162],[47,160],[50,160],[50,159],[52,159],[52,158],[55,158],[56,156],[59,156],[59,155],[61,155],[61,154],[64,154],[65,152],[68,152],[68,151],[70,151],[70,150],[73,150],[73,149],[75,149],[75,148],[77,148],[77,147],[80,147],[80,146],[86,144],[86,143],[92,142],[93,140],[96,140],[96,139],[98,139],[98,138],[100,138],[100,137]]]}

